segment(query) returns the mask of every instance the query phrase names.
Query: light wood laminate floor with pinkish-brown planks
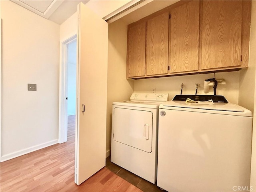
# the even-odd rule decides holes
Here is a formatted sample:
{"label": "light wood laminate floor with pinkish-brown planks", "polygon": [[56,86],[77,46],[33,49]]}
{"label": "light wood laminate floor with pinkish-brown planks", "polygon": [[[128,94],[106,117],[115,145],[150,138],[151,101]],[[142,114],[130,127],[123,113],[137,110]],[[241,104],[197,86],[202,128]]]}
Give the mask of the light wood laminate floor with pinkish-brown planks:
{"label": "light wood laminate floor with pinkish-brown planks", "polygon": [[68,142],[0,163],[1,192],[142,192],[106,167],[74,183],[75,116],[68,116]]}

